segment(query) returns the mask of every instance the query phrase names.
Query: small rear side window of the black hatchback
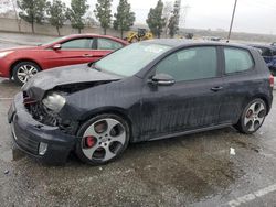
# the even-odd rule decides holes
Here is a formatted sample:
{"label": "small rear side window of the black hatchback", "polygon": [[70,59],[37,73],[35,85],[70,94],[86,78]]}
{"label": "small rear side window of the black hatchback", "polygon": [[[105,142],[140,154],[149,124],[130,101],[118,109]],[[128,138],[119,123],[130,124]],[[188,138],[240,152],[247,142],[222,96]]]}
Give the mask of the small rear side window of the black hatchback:
{"label": "small rear side window of the black hatchback", "polygon": [[238,73],[251,69],[254,66],[248,51],[241,48],[224,48],[225,73]]}

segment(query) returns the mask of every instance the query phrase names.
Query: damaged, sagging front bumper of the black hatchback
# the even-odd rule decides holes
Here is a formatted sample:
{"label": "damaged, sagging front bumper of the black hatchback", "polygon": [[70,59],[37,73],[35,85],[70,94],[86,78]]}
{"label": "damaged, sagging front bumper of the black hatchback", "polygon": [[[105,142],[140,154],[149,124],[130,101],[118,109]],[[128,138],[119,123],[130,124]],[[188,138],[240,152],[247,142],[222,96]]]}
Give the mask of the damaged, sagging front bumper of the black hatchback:
{"label": "damaged, sagging front bumper of the black hatchback", "polygon": [[32,118],[23,105],[22,92],[14,97],[8,120],[19,149],[46,163],[64,163],[75,146],[76,137]]}

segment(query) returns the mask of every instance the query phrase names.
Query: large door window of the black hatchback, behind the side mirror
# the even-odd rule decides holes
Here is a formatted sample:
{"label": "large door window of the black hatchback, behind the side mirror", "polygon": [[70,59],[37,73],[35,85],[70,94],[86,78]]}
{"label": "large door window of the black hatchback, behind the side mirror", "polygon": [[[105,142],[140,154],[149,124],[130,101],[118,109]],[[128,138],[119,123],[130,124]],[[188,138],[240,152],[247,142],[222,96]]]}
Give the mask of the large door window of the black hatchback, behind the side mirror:
{"label": "large door window of the black hatchback, behind the side mirror", "polygon": [[168,74],[176,81],[216,77],[216,48],[201,46],[178,51],[161,61],[156,66],[156,73]]}

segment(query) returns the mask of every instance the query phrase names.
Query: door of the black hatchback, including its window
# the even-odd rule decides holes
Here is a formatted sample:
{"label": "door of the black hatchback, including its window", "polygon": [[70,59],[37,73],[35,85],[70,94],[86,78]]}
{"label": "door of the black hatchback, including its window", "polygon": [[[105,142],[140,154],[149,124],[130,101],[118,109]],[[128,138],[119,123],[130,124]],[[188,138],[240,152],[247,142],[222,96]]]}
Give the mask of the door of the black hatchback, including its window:
{"label": "door of the black hatchback, including its window", "polygon": [[[176,80],[171,86],[146,84],[141,134],[145,139],[219,124],[221,63],[215,46],[183,48],[152,69]],[[147,77],[150,78],[150,77]]]}

